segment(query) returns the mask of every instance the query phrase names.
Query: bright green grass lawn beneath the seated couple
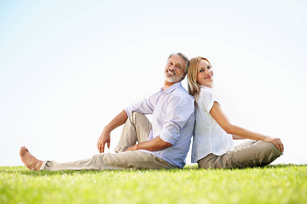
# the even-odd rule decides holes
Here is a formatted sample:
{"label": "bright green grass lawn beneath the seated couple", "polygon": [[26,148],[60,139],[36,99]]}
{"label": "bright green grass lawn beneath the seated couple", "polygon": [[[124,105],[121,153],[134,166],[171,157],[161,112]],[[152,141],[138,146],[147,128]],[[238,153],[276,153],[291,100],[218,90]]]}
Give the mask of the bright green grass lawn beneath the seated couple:
{"label": "bright green grass lawn beneath the seated couple", "polygon": [[0,203],[306,203],[307,165],[29,171],[0,167]]}

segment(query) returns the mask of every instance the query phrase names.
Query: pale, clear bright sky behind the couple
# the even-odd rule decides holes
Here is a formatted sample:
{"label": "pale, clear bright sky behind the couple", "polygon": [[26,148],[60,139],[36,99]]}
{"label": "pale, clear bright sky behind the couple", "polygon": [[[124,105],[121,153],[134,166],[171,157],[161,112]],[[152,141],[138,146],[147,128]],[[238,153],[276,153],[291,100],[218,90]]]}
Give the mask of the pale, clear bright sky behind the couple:
{"label": "pale, clear bright sky behind the couple", "polygon": [[163,86],[178,51],[210,60],[233,123],[281,138],[274,163],[307,163],[306,36],[304,0],[2,0],[0,165],[22,165],[22,145],[59,162],[98,153],[103,127]]}

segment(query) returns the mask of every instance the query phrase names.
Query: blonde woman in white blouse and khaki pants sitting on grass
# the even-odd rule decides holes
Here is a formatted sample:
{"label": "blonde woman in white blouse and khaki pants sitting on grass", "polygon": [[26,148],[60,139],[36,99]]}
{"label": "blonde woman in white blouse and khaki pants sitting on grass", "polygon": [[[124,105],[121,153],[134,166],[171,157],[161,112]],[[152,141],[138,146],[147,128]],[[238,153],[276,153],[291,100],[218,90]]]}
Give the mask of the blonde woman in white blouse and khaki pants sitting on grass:
{"label": "blonde woman in white blouse and khaki pants sitting on grass", "polygon": [[[232,124],[212,89],[213,69],[204,57],[190,60],[189,93],[195,98],[196,122],[192,162],[202,168],[245,168],[264,166],[283,152],[279,138]],[[233,139],[252,139],[233,147]]]}

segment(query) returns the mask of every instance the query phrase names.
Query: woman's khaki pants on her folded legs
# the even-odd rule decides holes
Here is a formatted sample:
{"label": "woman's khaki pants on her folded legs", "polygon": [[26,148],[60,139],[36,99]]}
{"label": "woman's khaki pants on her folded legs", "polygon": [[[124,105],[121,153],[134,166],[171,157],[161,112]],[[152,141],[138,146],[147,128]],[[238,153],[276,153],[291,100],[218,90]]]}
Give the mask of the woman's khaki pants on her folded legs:
{"label": "woman's khaki pants on her folded legs", "polygon": [[245,168],[264,166],[282,152],[271,142],[248,140],[217,156],[213,153],[197,161],[200,168]]}

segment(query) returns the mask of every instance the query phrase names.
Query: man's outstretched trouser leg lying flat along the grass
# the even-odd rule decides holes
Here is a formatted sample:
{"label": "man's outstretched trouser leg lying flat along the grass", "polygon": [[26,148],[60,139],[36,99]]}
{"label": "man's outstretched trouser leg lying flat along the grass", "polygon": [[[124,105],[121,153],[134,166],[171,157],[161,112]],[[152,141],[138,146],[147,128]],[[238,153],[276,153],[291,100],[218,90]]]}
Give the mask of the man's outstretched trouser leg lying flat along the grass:
{"label": "man's outstretched trouser leg lying flat along the grass", "polygon": [[120,153],[100,153],[89,159],[58,163],[43,161],[40,170],[109,170],[109,169],[159,169],[176,168],[169,162],[140,151],[125,151]]}

